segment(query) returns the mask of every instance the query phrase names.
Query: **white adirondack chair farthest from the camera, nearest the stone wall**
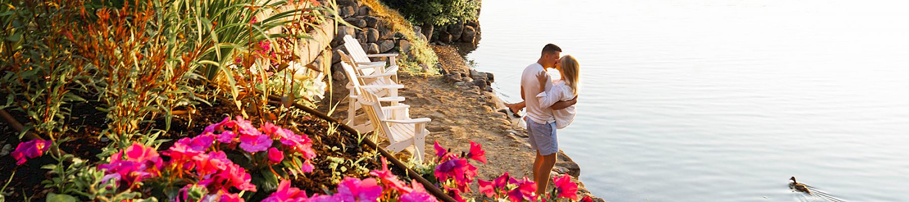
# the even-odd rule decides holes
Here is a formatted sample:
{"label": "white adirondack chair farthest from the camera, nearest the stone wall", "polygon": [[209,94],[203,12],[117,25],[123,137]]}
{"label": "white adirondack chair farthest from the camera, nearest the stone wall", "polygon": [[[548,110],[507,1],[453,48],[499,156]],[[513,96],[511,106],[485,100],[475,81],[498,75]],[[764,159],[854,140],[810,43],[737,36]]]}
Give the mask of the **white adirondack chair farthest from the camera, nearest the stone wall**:
{"label": "white adirondack chair farthest from the camera, nearest the stone wall", "polygon": [[[395,75],[392,76],[392,80],[395,81],[395,83],[398,82],[398,80],[397,80],[398,66],[395,61],[395,57],[397,57],[398,54],[366,54],[366,51],[363,50],[363,45],[360,45],[360,42],[356,41],[354,36],[351,36],[351,35],[344,36],[344,46],[347,49],[347,53],[349,53],[350,56],[354,58],[355,65],[369,66],[369,65],[381,64],[381,66],[384,67],[384,68],[375,68],[375,69],[365,69],[365,70],[363,70],[364,75],[372,75],[374,73],[379,73],[379,74],[394,73]],[[369,59],[369,57],[387,57],[389,66],[385,67],[384,61],[373,62],[372,60]]]}

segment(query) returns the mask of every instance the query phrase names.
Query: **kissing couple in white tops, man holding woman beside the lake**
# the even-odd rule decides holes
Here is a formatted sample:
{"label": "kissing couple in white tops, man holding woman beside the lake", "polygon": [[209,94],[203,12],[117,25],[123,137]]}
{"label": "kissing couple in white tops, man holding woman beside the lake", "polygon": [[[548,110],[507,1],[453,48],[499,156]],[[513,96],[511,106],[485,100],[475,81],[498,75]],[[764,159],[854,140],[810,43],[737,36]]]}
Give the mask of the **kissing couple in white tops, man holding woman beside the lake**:
{"label": "kissing couple in white tops, man holding woman beside the lake", "polygon": [[[543,47],[536,63],[524,68],[521,76],[521,98],[524,102],[505,104],[512,112],[526,107],[525,121],[530,145],[536,150],[534,182],[536,195],[543,196],[549,184],[549,173],[555,165],[559,151],[555,129],[562,129],[574,121],[574,104],[577,102],[578,70],[574,56],[562,56],[562,48],[548,44]],[[547,73],[554,68],[561,74],[553,80]]]}

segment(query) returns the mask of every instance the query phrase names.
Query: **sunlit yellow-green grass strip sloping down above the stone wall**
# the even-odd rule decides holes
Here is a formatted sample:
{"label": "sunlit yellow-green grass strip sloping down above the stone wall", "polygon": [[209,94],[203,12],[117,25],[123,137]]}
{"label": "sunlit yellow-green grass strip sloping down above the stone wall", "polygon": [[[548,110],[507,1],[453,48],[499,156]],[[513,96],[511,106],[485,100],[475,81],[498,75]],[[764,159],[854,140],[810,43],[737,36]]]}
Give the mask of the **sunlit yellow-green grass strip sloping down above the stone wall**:
{"label": "sunlit yellow-green grass strip sloping down above the stone wall", "polygon": [[[385,19],[385,23],[389,25],[395,32],[400,32],[405,35],[405,38],[410,41],[410,53],[401,53],[398,57],[401,71],[413,75],[437,75],[439,69],[435,67],[435,64],[439,62],[439,57],[435,56],[433,48],[429,47],[429,43],[418,37],[414,32],[414,25],[407,21],[404,16],[397,12],[397,10],[392,9],[380,2],[379,0],[362,0],[364,5],[369,5],[373,8],[373,13],[371,15],[381,17]],[[409,54],[414,55],[413,60],[407,59]],[[419,64],[426,64],[429,66],[428,69],[424,70],[423,67],[420,67]]]}

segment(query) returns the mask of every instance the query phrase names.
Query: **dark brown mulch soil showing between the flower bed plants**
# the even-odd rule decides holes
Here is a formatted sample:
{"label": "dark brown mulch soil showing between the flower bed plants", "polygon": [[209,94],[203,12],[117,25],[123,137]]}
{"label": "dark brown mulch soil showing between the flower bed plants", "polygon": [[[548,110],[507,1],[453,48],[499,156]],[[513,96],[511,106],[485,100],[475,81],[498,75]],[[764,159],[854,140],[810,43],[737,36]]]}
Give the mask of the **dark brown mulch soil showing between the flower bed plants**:
{"label": "dark brown mulch soil showing between the flower bed plants", "polygon": [[[190,115],[175,116],[175,118],[172,119],[170,130],[165,135],[158,137],[158,139],[170,139],[171,141],[162,144],[162,146],[159,147],[159,150],[172,146],[176,139],[185,136],[198,135],[205,126],[220,122],[225,116],[240,115],[236,106],[217,101],[212,104],[212,106],[196,106],[195,113]],[[69,127],[74,128],[74,130],[65,133],[65,136],[71,137],[71,139],[64,143],[61,146],[61,149],[76,157],[97,162],[100,159],[95,156],[100,154],[101,148],[107,146],[110,142],[102,142],[99,138],[100,136],[98,136],[106,127],[106,122],[105,113],[95,110],[95,106],[96,104],[92,103],[73,106],[73,116],[68,123],[70,125]],[[25,121],[24,115],[13,114],[20,122]],[[303,112],[298,112],[296,114],[305,115]],[[257,119],[253,119],[252,121],[255,126],[261,124],[261,121]],[[313,161],[315,169],[311,173],[306,173],[304,176],[292,179],[292,185],[305,190],[306,193],[323,193],[324,187],[327,187],[328,189],[334,188],[336,184],[333,182],[333,177],[335,180],[338,177],[368,177],[368,172],[362,172],[362,170],[357,171],[353,168],[355,167],[353,162],[361,157],[366,158],[363,161],[357,162],[356,165],[365,167],[368,170],[381,168],[381,165],[379,164],[380,156],[375,152],[375,148],[366,146],[365,143],[358,144],[355,134],[350,134],[337,126],[334,126],[335,133],[328,135],[327,131],[330,127],[330,123],[325,120],[308,115],[288,116],[285,119],[277,121],[277,123],[279,126],[285,126],[295,130],[295,133],[309,136],[314,142],[313,149],[318,156]],[[144,126],[163,129],[165,127],[164,119],[159,118],[155,123]],[[0,131],[0,135],[2,135],[2,137],[0,137],[0,147],[11,145],[15,148],[20,140],[18,139],[18,136],[16,136],[17,133],[12,126],[3,123],[3,126],[0,126],[0,129],[2,129],[2,131]],[[12,149],[9,151],[12,151]],[[333,171],[331,168],[333,161],[330,160],[329,157],[343,158],[345,159],[345,163],[336,166]],[[30,159],[22,166],[16,166],[13,157],[9,155],[0,157],[0,179],[3,180],[0,182],[0,186],[9,179],[13,170],[16,171],[12,183],[4,190],[5,192],[13,192],[6,197],[6,200],[20,201],[25,200],[25,197],[45,197],[45,194],[52,190],[45,189],[44,186],[41,185],[41,181],[48,179],[50,176],[46,174],[47,170],[41,169],[40,167],[54,163],[56,163],[56,161],[52,157],[45,155],[43,157]],[[342,171],[341,167],[345,167],[346,170]],[[395,168],[392,168],[392,170],[395,172],[395,175],[409,181],[409,179],[406,179],[405,177],[405,171]]]}

